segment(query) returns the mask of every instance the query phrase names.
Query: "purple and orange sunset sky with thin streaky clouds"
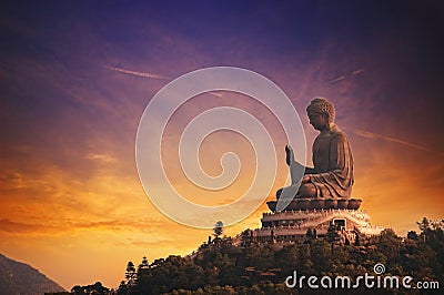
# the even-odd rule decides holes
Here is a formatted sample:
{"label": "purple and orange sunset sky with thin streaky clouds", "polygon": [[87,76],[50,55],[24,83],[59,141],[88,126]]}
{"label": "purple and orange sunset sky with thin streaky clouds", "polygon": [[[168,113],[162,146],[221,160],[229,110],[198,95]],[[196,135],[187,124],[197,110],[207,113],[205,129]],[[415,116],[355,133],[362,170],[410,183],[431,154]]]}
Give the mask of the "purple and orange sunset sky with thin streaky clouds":
{"label": "purple and orange sunset sky with thin streaky clouds", "polygon": [[[258,72],[287,94],[307,157],[316,132],[306,105],[313,96],[335,104],[355,160],[353,196],[373,224],[404,235],[423,216],[443,218],[443,21],[440,1],[2,1],[0,253],[67,289],[117,287],[128,261],[186,255],[206,241],[211,230],[178,224],[149,201],[134,150],[151,98],[218,65]],[[238,183],[212,199],[180,172],[180,131],[218,105],[241,108],[270,131],[273,200],[286,177],[283,131],[236,93],[199,95],[174,114],[163,142],[171,182],[205,205],[250,185],[254,152],[232,132],[205,140],[200,159],[216,175],[220,156],[235,151]],[[266,210],[225,233],[260,227]]]}

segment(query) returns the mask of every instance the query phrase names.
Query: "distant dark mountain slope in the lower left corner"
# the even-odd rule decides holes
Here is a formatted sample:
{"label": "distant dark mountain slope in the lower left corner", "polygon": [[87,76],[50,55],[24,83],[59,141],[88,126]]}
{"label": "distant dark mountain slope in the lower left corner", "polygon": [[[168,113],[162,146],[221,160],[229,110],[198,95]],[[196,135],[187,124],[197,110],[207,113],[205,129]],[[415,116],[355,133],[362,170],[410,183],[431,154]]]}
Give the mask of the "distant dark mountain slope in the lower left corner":
{"label": "distant dark mountain slope in the lower left corner", "polygon": [[0,294],[41,295],[59,291],[64,289],[38,269],[0,254]]}

